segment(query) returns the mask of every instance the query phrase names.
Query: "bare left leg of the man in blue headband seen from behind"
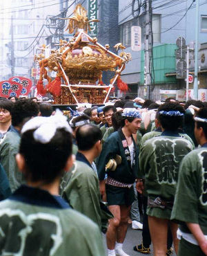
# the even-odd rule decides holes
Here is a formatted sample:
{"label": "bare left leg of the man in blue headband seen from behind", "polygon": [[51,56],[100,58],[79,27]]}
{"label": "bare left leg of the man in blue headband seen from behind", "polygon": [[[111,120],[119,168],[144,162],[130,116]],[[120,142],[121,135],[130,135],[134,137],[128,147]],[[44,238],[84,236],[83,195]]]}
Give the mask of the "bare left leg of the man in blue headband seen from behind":
{"label": "bare left leg of the man in blue headband seen from behind", "polygon": [[148,216],[150,235],[155,256],[166,256],[168,219]]}

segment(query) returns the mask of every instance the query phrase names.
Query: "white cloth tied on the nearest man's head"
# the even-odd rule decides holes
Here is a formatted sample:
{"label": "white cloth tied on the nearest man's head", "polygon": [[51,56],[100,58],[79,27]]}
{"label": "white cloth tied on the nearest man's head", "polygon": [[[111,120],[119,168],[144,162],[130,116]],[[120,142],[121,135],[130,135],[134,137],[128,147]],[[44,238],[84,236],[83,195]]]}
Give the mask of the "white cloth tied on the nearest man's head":
{"label": "white cloth tied on the nearest man's head", "polygon": [[30,119],[25,125],[23,125],[21,134],[35,129],[33,133],[34,140],[46,144],[55,136],[57,129],[61,128],[72,133],[72,129],[67,122],[66,116],[63,116],[63,113],[57,109],[54,116],[37,116],[36,118]]}

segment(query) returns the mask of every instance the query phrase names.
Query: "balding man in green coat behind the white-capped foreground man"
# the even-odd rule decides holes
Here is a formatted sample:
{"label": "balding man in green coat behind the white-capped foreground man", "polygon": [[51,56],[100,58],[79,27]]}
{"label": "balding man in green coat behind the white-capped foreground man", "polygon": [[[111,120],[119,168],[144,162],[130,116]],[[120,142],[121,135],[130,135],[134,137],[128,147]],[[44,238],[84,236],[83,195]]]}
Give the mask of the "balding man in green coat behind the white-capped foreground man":
{"label": "balding man in green coat behind the white-capped foreground man", "polygon": [[[75,169],[70,179],[66,181],[63,199],[66,199],[73,209],[95,221],[100,230],[106,232],[108,219],[112,214],[103,210],[99,192],[99,179],[92,169],[92,163],[99,156],[101,145],[101,131],[95,125],[82,125],[76,131],[77,146]],[[101,208],[102,206],[102,208]]]}

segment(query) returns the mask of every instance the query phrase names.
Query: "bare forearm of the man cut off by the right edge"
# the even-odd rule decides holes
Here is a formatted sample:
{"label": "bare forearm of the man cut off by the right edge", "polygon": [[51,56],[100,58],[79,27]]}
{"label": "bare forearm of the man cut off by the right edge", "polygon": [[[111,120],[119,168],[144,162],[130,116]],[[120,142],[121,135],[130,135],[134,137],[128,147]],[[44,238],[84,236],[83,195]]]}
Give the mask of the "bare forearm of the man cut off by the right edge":
{"label": "bare forearm of the man cut off by the right edge", "polygon": [[192,232],[193,236],[197,240],[201,250],[204,252],[205,255],[207,255],[207,239],[204,236],[204,233],[202,232],[199,224],[197,223],[186,223],[188,226],[190,232]]}

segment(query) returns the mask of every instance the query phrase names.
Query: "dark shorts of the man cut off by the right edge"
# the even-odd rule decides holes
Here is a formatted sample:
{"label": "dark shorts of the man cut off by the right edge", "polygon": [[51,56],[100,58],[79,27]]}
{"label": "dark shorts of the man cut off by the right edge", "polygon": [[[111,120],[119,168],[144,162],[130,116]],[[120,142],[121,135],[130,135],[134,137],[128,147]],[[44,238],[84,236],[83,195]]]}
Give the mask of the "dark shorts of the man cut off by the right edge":
{"label": "dark shorts of the man cut off by the right edge", "polygon": [[179,241],[177,256],[205,256],[199,246],[189,243],[183,237]]}

